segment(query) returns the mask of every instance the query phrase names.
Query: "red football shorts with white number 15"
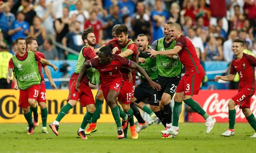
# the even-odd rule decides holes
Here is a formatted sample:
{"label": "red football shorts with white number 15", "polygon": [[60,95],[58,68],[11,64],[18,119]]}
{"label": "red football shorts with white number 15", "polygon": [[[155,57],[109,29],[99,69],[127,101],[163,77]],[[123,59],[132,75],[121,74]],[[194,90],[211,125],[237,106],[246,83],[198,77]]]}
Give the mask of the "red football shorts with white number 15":
{"label": "red football shorts with white number 15", "polygon": [[129,80],[123,82],[123,86],[118,94],[118,101],[122,104],[130,104],[133,93],[133,82]]}

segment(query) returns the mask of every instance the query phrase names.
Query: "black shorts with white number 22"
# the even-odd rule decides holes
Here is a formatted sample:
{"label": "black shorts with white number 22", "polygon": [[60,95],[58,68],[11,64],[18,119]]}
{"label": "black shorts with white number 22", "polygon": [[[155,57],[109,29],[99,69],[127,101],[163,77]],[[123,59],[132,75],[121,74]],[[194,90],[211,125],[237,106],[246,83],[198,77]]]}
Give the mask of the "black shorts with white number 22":
{"label": "black shorts with white number 22", "polygon": [[168,93],[172,98],[176,92],[180,77],[164,78],[158,77],[158,84],[161,86],[161,90],[157,93],[158,99],[161,100],[163,93]]}

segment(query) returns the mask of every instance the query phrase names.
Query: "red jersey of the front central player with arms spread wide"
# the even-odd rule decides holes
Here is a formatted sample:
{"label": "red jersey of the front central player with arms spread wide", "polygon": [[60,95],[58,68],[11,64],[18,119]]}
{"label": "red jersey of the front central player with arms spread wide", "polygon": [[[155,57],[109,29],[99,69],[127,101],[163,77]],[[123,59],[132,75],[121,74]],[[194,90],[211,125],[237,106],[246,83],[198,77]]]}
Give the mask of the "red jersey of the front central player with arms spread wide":
{"label": "red jersey of the front central player with arms spread wide", "polygon": [[99,70],[102,87],[114,82],[123,80],[120,72],[121,67],[131,68],[132,61],[113,54],[113,60],[110,64],[100,64],[98,58],[89,61],[89,65]]}

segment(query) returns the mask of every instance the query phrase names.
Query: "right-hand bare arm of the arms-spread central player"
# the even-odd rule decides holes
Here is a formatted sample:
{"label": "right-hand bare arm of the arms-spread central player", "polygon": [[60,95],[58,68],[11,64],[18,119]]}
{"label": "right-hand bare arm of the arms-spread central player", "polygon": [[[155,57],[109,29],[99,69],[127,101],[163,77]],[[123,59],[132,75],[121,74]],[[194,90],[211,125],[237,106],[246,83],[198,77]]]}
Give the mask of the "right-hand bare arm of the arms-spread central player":
{"label": "right-hand bare arm of the arms-spread central player", "polygon": [[137,70],[143,77],[147,80],[147,82],[150,84],[150,86],[153,89],[157,89],[157,91],[161,90],[161,86],[158,83],[153,82],[150,77],[148,77],[147,73],[143,68],[141,68],[137,63],[132,62],[132,68]]}

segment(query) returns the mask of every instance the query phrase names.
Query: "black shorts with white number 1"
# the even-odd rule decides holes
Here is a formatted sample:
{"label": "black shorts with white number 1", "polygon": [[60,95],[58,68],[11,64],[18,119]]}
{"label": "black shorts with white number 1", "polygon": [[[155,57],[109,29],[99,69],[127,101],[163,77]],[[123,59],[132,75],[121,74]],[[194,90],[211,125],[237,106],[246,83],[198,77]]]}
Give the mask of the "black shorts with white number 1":
{"label": "black shorts with white number 1", "polygon": [[[157,80],[153,80],[158,82]],[[149,98],[148,104],[159,106],[159,101],[157,99],[157,90],[153,89],[146,80],[142,80],[141,83],[135,88],[134,97],[137,99],[135,103],[140,103],[140,101]]]}

